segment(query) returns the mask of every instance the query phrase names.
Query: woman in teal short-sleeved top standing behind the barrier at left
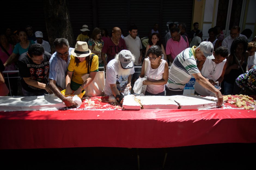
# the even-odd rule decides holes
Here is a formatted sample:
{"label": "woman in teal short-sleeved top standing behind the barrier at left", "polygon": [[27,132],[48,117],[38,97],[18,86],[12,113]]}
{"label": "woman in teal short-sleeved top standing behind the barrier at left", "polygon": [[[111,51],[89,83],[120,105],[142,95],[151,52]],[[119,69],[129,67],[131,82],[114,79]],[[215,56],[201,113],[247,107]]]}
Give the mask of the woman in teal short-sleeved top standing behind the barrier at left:
{"label": "woman in teal short-sleeved top standing behind the barrier at left", "polygon": [[13,53],[11,53],[8,60],[4,63],[5,67],[7,65],[11,64],[17,55],[19,56],[19,55],[27,52],[29,46],[31,46],[32,44],[35,44],[35,42],[33,40],[28,40],[27,33],[24,30],[20,30],[18,32],[18,36],[19,36],[20,42],[15,45],[15,47],[13,49]]}

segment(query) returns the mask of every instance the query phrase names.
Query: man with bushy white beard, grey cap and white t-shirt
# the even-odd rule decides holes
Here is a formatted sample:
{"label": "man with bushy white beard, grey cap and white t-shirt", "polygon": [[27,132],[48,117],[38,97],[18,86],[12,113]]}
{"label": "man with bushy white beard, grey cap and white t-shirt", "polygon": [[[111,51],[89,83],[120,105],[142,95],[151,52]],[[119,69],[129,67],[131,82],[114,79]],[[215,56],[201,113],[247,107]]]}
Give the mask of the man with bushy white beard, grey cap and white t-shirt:
{"label": "man with bushy white beard, grey cap and white t-shirt", "polygon": [[129,50],[122,50],[109,61],[106,68],[105,96],[109,102],[123,103],[124,90],[131,86],[131,74],[134,73],[133,61],[135,57]]}

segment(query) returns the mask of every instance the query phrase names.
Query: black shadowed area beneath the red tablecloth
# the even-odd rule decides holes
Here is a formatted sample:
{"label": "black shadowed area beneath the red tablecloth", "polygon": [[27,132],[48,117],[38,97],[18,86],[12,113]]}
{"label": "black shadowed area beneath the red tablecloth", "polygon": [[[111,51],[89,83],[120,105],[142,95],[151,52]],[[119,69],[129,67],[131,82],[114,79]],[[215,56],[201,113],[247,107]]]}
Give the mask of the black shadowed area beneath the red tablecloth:
{"label": "black shadowed area beneath the red tablecloth", "polygon": [[[1,150],[1,169],[251,169],[256,143],[136,149],[114,147]],[[164,156],[167,153],[164,168]]]}

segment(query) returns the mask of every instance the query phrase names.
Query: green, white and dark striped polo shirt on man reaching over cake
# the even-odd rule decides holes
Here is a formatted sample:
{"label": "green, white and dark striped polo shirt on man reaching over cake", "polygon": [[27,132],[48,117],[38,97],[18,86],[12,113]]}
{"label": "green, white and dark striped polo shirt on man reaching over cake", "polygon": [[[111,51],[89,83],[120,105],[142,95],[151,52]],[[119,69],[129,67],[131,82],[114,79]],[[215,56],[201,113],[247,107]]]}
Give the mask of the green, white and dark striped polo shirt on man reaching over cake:
{"label": "green, white and dark striped polo shirt on man reaching over cake", "polygon": [[166,88],[172,91],[182,91],[192,74],[200,73],[196,65],[196,46],[187,48],[177,55],[169,69]]}

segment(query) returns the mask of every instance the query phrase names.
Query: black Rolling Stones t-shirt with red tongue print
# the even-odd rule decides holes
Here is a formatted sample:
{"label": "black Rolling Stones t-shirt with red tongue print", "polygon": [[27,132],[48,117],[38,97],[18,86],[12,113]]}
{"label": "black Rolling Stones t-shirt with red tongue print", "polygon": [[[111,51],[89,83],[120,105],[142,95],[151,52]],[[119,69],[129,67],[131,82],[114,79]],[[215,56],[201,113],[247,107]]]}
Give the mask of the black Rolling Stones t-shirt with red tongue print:
{"label": "black Rolling Stones t-shirt with red tongue print", "polygon": [[[30,77],[32,80],[38,81],[40,83],[47,84],[48,83],[48,74],[50,70],[49,60],[51,58],[51,54],[48,52],[44,52],[44,61],[41,64],[35,64],[28,56],[27,52],[23,53],[19,56],[18,65],[20,77],[28,78]],[[39,89],[34,86],[28,85],[23,78],[21,79],[22,88],[28,92],[40,92],[44,89]]]}

